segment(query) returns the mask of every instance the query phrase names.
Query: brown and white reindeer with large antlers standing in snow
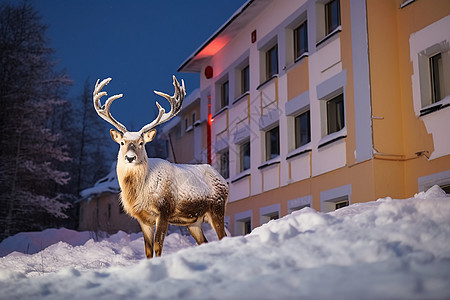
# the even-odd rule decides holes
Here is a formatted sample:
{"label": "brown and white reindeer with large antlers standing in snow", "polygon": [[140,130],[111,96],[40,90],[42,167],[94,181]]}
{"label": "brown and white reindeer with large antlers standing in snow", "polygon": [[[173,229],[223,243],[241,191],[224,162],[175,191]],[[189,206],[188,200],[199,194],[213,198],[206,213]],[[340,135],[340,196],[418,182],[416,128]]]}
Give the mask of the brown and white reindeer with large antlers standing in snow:
{"label": "brown and white reindeer with large antlers standing in snow", "polygon": [[[170,103],[170,111],[156,102],[158,116],[138,132],[130,132],[113,118],[110,106],[123,95],[109,97],[105,105],[100,98],[107,95],[101,91],[111,78],[95,84],[94,107],[97,114],[113,125],[112,139],[120,145],[117,156],[117,178],[121,188],[120,201],[124,210],[137,219],[144,235],[147,258],[161,256],[168,224],[187,226],[197,244],[206,243],[202,223],[208,222],[220,239],[226,236],[224,229],[225,205],[228,199],[228,184],[210,165],[172,164],[159,158],[147,158],[145,144],[156,135],[156,127],[179,113],[186,95],[182,86],[173,76],[175,93],[173,96],[157,92]],[[156,232],[154,234],[154,227]]]}

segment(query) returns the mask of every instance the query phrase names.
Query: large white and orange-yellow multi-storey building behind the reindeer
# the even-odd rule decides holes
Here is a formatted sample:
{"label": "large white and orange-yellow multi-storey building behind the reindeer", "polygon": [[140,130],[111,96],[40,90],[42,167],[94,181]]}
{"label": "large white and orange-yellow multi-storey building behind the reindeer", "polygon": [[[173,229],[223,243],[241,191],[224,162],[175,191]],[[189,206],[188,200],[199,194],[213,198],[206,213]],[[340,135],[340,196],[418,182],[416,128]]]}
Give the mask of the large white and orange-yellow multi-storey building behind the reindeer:
{"label": "large white and orange-yellow multi-storey building behind the reindeer", "polygon": [[[233,234],[450,185],[450,2],[249,0],[180,66]],[[203,144],[202,144],[203,145]]]}

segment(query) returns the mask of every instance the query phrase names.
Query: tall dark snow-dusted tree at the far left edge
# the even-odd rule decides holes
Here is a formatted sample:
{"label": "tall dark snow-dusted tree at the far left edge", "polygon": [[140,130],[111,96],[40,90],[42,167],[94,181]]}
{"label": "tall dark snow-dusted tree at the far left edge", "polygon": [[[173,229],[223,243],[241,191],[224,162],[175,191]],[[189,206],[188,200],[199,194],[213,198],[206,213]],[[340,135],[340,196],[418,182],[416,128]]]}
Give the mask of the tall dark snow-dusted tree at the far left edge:
{"label": "tall dark snow-dusted tree at the far left edge", "polygon": [[65,218],[70,206],[58,186],[71,157],[52,128],[70,80],[54,71],[46,29],[29,3],[0,6],[0,240]]}

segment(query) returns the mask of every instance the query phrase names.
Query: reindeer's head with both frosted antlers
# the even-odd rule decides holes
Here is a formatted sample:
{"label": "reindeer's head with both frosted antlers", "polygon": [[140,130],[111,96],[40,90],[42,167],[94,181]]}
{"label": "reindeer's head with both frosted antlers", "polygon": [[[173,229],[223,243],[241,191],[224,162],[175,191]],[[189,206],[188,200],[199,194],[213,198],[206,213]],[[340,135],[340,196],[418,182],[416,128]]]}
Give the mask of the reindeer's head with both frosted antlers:
{"label": "reindeer's head with both frosted antlers", "polygon": [[155,120],[149,124],[143,126],[141,130],[137,132],[128,131],[127,128],[113,118],[110,112],[111,104],[118,98],[121,98],[123,94],[113,95],[109,97],[104,105],[101,105],[100,98],[106,96],[107,93],[102,91],[103,87],[111,81],[111,78],[106,78],[102,81],[97,80],[93,92],[94,108],[97,114],[113,125],[117,130],[111,129],[112,139],[120,145],[118,160],[128,165],[147,163],[147,153],[145,151],[145,144],[152,141],[156,135],[156,127],[159,124],[169,121],[176,116],[181,109],[184,96],[186,95],[186,89],[184,87],[184,81],[181,80],[181,86],[178,80],[173,76],[173,85],[175,87],[175,93],[173,96],[154,91],[157,95],[167,99],[170,103],[170,111],[165,112],[164,108],[156,102],[158,107],[158,116]]}

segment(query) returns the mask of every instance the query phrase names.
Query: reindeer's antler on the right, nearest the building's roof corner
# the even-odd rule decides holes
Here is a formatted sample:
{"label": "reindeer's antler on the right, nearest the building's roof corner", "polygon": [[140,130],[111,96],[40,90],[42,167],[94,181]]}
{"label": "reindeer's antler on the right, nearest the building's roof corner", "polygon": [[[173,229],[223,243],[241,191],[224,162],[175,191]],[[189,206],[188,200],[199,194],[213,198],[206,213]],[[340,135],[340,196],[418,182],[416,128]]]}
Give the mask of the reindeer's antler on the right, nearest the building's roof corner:
{"label": "reindeer's antler on the right, nearest the building's roof corner", "polygon": [[161,105],[159,105],[159,103],[156,102],[156,106],[158,107],[159,110],[158,116],[151,123],[141,128],[141,130],[139,131],[141,134],[153,129],[159,124],[169,121],[180,112],[181,104],[183,103],[184,96],[186,95],[184,80],[181,79],[181,86],[180,86],[178,80],[175,78],[175,76],[173,76],[173,86],[175,87],[175,93],[173,94],[173,96],[169,96],[167,94],[154,91],[155,94],[162,96],[166,98],[167,101],[169,101],[170,111],[166,113],[164,108],[162,108]]}

